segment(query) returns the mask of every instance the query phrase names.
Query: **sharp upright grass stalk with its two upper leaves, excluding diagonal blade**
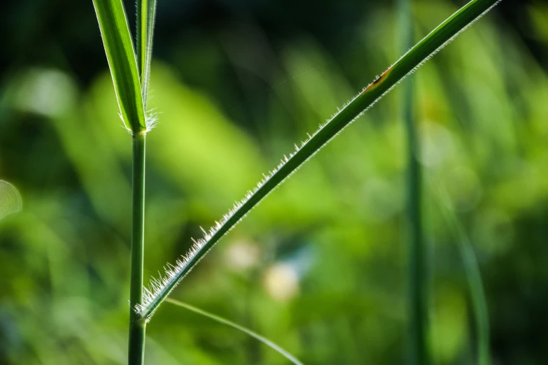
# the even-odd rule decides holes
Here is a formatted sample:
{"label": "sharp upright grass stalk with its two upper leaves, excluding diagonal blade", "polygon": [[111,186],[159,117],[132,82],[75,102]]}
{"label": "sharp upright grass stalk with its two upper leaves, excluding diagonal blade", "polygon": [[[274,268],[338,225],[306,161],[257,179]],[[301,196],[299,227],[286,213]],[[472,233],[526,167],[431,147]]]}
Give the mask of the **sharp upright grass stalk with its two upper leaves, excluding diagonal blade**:
{"label": "sharp upright grass stalk with its two upper leaves, excluding diagonal blade", "polygon": [[143,304],[145,136],[155,118],[145,115],[156,0],[136,1],[136,50],[122,0],[93,0],[120,117],[133,138],[132,239],[129,288],[129,364],[143,364],[146,321],[133,308]]}

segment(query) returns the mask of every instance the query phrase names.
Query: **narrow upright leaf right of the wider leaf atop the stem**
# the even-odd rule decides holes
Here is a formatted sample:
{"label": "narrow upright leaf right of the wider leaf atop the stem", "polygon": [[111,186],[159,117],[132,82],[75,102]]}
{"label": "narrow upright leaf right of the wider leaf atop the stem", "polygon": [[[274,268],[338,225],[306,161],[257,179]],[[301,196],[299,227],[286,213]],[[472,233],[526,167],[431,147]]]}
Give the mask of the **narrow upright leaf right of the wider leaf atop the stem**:
{"label": "narrow upright leaf right of the wider leaf atop the stem", "polygon": [[150,78],[150,63],[152,62],[152,47],[154,23],[156,19],[156,0],[137,0],[137,64],[141,76],[143,90],[143,107],[146,110],[148,80]]}

